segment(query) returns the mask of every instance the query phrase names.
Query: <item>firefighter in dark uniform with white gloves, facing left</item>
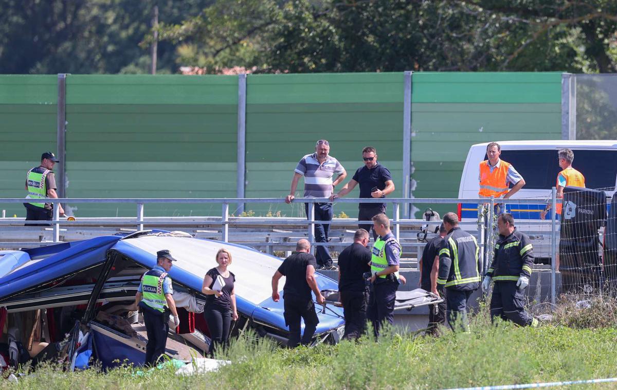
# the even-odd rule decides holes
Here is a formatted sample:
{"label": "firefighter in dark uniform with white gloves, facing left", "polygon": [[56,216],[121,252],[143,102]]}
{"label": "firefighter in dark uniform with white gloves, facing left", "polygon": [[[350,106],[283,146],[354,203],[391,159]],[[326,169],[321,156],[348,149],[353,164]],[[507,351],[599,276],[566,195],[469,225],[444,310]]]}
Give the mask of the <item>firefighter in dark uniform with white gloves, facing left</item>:
{"label": "firefighter in dark uniform with white gloves, facing left", "polygon": [[538,321],[524,310],[525,288],[534,264],[534,250],[527,234],[516,230],[511,214],[497,218],[499,241],[482,290],[495,282],[491,296],[491,320],[499,316],[520,326],[537,326]]}

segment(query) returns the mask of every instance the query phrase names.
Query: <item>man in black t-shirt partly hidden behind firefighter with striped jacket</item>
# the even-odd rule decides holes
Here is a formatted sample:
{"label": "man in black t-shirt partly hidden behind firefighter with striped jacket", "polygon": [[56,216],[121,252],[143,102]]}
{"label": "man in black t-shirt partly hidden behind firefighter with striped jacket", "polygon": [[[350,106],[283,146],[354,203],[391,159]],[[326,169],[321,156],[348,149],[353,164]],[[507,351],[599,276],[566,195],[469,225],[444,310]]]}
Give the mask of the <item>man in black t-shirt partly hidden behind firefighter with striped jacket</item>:
{"label": "man in black t-shirt partly hidden behind firefighter with striped jacket", "polygon": [[[422,257],[418,262],[420,270],[420,288],[426,291],[431,291],[433,294],[439,295],[437,292],[437,275],[439,273],[439,251],[444,246],[444,237],[447,234],[445,226],[442,223],[439,226],[439,236],[431,239],[424,246]],[[445,323],[445,301],[428,307],[428,329],[426,333],[439,336],[437,326]]]}

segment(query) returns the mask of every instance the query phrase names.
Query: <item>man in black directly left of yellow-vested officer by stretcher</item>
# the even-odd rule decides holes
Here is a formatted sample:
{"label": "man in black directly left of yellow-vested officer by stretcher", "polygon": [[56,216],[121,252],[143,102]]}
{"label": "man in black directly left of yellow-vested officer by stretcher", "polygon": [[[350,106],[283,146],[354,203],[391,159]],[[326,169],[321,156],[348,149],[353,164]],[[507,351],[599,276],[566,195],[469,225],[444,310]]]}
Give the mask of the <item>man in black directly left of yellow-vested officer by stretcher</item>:
{"label": "man in black directly left of yellow-vested officer by stretcher", "polygon": [[354,243],[339,254],[339,297],[345,316],[344,339],[357,339],[366,330],[366,305],[368,305],[368,286],[363,274],[371,272],[371,251],[368,244],[368,231],[358,229]]}

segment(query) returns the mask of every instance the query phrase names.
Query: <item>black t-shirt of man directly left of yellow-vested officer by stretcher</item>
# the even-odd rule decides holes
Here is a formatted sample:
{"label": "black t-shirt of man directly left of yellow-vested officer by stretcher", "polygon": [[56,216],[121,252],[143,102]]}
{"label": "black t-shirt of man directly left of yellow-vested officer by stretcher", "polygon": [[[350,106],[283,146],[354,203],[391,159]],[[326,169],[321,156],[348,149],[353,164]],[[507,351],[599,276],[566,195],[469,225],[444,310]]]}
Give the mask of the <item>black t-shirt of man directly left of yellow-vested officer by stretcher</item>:
{"label": "black t-shirt of man directly left of yellow-vested officer by stretcher", "polygon": [[362,274],[371,271],[371,250],[362,244],[353,243],[339,254],[339,291],[359,291],[366,289]]}

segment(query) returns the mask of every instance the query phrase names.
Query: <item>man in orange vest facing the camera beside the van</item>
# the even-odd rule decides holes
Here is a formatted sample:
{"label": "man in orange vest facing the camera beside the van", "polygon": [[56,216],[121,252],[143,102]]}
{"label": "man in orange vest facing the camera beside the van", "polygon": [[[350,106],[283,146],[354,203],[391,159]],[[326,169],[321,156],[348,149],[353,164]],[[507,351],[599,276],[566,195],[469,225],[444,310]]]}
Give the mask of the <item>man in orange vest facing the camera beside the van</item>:
{"label": "man in orange vest facing the camera beside the van", "polygon": [[[501,156],[501,146],[492,142],[486,146],[486,156],[488,160],[480,163],[480,174],[478,180],[480,182],[480,197],[495,198],[502,197],[508,199],[513,196],[516,191],[523,188],[525,180],[516,169],[508,162],[499,158]],[[513,185],[510,188],[510,183]],[[503,211],[503,210],[502,210]]]}

